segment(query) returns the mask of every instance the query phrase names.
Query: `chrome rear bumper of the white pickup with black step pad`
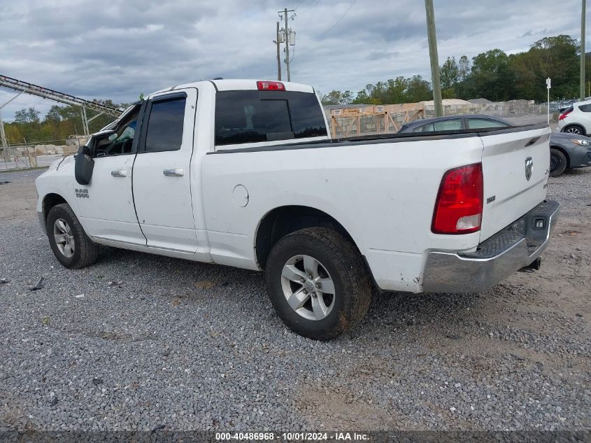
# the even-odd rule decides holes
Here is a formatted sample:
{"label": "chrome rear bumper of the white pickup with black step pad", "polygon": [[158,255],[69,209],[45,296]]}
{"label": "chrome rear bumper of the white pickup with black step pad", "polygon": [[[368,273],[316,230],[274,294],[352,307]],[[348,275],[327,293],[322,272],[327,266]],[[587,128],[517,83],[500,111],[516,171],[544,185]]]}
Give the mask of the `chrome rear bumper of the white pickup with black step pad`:
{"label": "chrome rear bumper of the white pickup with black step pad", "polygon": [[430,252],[423,291],[471,293],[494,286],[539,258],[559,212],[558,202],[543,202],[483,241],[473,253]]}

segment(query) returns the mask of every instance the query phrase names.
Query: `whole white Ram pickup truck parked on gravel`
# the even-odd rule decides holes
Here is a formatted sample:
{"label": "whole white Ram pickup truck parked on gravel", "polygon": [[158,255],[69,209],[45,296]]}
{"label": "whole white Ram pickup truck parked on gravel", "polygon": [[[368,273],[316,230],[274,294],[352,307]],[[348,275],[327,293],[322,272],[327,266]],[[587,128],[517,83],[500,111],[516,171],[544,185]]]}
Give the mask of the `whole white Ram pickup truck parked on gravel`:
{"label": "whole white Ram pickup truck parked on gravel", "polygon": [[212,80],[134,104],[36,180],[68,268],[99,244],[266,271],[295,332],[331,339],[373,288],[484,290],[538,267],[559,209],[545,200],[543,125],[330,139],[312,87]]}

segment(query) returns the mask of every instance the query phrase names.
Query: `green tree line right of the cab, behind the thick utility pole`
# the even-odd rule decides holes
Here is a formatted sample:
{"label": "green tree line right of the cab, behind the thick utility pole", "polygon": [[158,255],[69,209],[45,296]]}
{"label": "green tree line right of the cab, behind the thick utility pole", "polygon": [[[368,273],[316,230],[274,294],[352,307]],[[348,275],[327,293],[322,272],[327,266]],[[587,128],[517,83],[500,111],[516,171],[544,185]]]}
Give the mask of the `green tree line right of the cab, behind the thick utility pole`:
{"label": "green tree line right of the cab, behind the thick utility pole", "polygon": [[[471,60],[448,57],[439,67],[444,99],[485,98],[490,101],[527,99],[546,101],[546,78],[552,78],[551,99],[570,99],[579,93],[580,44],[568,35],[545,37],[526,52],[482,52]],[[585,78],[591,78],[590,55],[585,55]],[[591,92],[587,92],[591,95]],[[357,93],[333,90],[322,104],[397,104],[432,100],[431,84],[421,76],[399,76],[368,84]]]}

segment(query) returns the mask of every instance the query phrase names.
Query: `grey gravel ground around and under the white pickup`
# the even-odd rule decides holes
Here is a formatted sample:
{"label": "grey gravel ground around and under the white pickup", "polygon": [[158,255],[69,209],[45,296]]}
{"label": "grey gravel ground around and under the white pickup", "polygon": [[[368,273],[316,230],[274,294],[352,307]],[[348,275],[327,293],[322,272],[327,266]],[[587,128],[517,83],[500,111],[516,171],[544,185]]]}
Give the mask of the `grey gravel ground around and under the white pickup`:
{"label": "grey gravel ground around and under the white pickup", "polygon": [[328,343],[287,330],[257,272],[108,248],[64,269],[38,174],[0,174],[0,430],[591,428],[591,168],[550,180],[541,271],[376,295]]}

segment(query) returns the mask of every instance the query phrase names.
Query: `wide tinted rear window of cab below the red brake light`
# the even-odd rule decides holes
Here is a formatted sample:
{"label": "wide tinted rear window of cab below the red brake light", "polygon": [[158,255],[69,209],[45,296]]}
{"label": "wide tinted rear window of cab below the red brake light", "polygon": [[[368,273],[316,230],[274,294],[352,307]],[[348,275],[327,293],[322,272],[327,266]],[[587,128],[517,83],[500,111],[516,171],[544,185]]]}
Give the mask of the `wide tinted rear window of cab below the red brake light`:
{"label": "wide tinted rear window of cab below the red brake light", "polygon": [[222,91],[215,99],[217,146],[326,136],[322,108],[308,92]]}

